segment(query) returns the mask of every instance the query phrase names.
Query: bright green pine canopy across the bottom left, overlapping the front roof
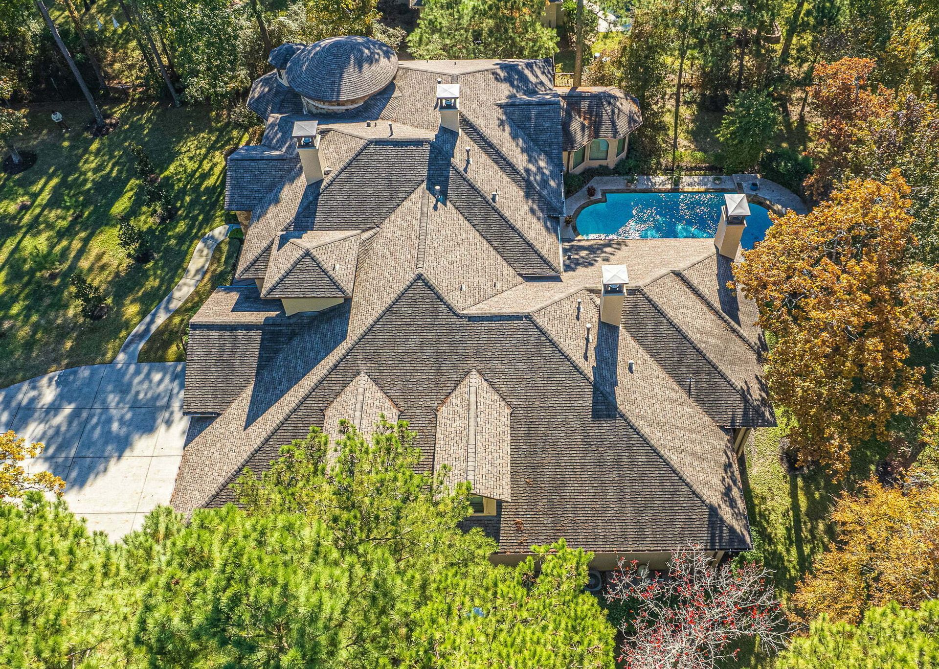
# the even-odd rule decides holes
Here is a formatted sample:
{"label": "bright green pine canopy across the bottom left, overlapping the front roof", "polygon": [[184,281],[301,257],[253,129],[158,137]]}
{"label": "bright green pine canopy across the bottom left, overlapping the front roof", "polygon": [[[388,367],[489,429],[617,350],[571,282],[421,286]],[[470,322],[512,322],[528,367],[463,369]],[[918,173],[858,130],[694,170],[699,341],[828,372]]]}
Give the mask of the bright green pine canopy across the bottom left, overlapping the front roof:
{"label": "bright green pine canopy across the bottom left, overlapping the front roof", "polygon": [[158,507],[121,545],[62,503],[0,504],[0,661],[610,666],[592,554],[561,541],[493,566],[495,542],[458,526],[469,483],[418,472],[413,439],[404,423],[334,444],[314,428],[239,478],[240,506],[188,522]]}

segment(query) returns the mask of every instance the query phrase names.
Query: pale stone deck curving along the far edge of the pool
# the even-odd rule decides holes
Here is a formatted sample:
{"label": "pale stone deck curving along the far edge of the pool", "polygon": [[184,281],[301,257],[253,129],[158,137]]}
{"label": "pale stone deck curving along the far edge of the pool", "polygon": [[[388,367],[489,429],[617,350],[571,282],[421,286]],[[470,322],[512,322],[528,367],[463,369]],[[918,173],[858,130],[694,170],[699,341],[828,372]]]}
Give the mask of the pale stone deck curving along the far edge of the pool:
{"label": "pale stone deck curving along the far edge of the pool", "polygon": [[[716,179],[719,179],[717,181]],[[757,190],[752,190],[750,184],[757,182]],[[588,196],[587,189],[593,186],[596,192],[593,197]],[[600,202],[605,193],[643,193],[664,191],[717,191],[724,193],[746,193],[747,199],[754,204],[768,206],[776,213],[793,210],[796,213],[808,213],[808,207],[802,199],[787,188],[783,188],[776,181],[762,179],[755,174],[734,174],[724,177],[704,175],[700,177],[682,177],[678,188],[672,185],[671,177],[638,177],[636,183],[628,183],[623,177],[594,177],[577,193],[564,200],[564,213],[568,216],[577,216],[577,212],[588,204]],[[576,226],[564,224],[561,230],[563,240],[573,240],[577,237]]]}

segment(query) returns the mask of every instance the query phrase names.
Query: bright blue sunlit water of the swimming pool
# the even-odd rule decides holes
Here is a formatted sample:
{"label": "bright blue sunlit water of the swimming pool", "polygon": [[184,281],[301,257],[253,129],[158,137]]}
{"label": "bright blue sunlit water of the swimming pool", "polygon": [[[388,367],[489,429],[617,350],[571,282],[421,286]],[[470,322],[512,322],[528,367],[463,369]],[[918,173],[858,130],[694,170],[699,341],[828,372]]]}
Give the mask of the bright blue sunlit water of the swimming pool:
{"label": "bright blue sunlit water of the swimming pool", "polygon": [[[577,231],[624,240],[714,237],[723,205],[723,193],[608,193],[606,202],[580,210]],[[771,225],[767,210],[750,204],[740,245],[753,248]]]}

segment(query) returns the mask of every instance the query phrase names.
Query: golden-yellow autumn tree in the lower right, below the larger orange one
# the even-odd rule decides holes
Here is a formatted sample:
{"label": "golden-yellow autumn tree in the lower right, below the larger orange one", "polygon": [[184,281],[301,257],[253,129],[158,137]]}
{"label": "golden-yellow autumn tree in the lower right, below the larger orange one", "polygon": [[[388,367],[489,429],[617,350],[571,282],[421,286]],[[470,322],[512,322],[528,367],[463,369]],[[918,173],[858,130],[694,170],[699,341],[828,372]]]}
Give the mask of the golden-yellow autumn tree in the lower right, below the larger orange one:
{"label": "golden-yellow autumn tree in the lower right, below the larger orange one", "polygon": [[857,623],[890,601],[915,608],[939,599],[939,481],[916,473],[891,488],[870,481],[860,495],[841,495],[832,520],[837,543],[816,558],[793,610]]}

